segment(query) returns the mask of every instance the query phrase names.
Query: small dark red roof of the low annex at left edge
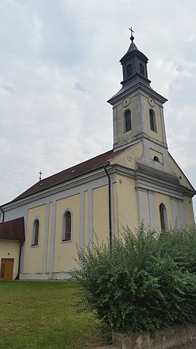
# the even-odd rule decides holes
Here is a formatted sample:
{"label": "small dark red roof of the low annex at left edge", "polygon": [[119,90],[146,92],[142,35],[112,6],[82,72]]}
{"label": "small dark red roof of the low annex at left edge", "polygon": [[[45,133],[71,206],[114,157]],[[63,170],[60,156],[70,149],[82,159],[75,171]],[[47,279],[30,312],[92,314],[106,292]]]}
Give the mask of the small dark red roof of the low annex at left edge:
{"label": "small dark red roof of the low annex at left edge", "polygon": [[0,240],[25,241],[24,218],[21,217],[1,223]]}

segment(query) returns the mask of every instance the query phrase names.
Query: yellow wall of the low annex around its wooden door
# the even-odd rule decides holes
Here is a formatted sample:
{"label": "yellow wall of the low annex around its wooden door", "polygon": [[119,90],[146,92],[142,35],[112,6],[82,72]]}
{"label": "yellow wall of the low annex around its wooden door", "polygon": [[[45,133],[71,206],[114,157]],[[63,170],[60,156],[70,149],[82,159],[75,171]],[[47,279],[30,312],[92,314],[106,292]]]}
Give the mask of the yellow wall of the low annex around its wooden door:
{"label": "yellow wall of the low annex around its wooden door", "polygon": [[13,280],[18,275],[18,264],[20,255],[20,242],[18,241],[3,241],[0,243],[0,268],[1,258],[13,258]]}

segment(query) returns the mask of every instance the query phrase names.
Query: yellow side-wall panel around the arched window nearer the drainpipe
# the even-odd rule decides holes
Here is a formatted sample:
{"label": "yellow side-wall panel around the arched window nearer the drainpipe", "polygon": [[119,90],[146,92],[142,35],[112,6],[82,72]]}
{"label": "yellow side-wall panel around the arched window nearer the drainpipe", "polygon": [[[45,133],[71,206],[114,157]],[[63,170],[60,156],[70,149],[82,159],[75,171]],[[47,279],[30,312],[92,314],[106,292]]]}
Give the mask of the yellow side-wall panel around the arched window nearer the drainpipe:
{"label": "yellow side-wall panel around the arched window nearer the drainpipe", "polygon": [[[70,210],[72,216],[72,239],[62,242],[62,219],[66,210]],[[55,224],[55,256],[54,272],[71,271],[77,266],[74,258],[77,258],[76,245],[79,246],[80,232],[80,196],[69,196],[56,203],[56,224]]]}

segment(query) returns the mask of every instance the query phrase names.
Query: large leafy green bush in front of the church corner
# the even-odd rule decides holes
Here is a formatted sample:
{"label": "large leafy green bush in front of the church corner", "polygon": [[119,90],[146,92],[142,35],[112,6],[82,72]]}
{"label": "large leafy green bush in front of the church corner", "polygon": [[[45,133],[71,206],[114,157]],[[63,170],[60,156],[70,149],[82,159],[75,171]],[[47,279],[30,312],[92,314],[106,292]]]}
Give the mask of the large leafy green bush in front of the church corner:
{"label": "large leafy green bush in front of the church corner", "polygon": [[196,231],[174,228],[155,237],[141,226],[122,239],[79,251],[87,307],[113,331],[155,330],[196,322]]}

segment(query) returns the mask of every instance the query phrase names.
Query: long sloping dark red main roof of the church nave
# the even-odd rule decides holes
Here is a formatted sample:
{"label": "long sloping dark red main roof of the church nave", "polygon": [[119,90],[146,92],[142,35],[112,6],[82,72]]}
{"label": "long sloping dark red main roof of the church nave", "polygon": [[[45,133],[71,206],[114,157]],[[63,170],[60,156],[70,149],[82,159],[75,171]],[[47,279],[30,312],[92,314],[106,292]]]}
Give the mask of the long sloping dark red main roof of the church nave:
{"label": "long sloping dark red main roof of the church nave", "polygon": [[15,198],[13,201],[19,200],[20,198],[25,198],[26,196],[30,196],[31,194],[43,191],[44,189],[48,189],[52,186],[56,186],[57,184],[68,181],[69,179],[73,179],[80,175],[84,175],[87,172],[97,170],[99,167],[103,167],[104,165],[106,165],[108,161],[111,160],[111,158],[114,158],[122,151],[123,150],[113,152],[113,149],[110,151],[106,151],[106,153],[95,156],[90,160],[86,160],[83,163],[79,163],[78,165],[69,167],[66,170],[58,172],[55,175],[42,179],[26,191],[24,191],[22,194],[20,194],[20,196]]}

